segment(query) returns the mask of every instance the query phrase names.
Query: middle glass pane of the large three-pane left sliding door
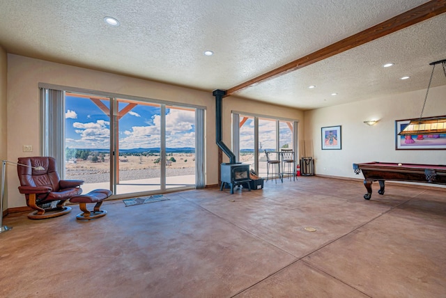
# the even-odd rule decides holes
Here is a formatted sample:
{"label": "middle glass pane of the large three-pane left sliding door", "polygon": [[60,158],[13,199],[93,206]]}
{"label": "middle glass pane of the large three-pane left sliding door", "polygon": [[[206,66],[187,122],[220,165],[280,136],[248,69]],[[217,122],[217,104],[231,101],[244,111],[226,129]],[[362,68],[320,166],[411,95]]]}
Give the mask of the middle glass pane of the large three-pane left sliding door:
{"label": "middle glass pane of the large three-pane left sliding door", "polygon": [[116,194],[161,189],[160,104],[117,100]]}

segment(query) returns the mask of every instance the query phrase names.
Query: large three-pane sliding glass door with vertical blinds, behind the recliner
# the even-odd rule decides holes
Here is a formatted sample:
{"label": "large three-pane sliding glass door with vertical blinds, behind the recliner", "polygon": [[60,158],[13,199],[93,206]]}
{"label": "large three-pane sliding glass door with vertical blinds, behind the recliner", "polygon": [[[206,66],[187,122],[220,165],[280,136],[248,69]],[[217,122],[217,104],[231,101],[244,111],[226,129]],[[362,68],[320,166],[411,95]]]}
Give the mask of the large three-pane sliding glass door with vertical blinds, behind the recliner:
{"label": "large three-pane sliding glass door with vertical blinds, behind the recliner", "polygon": [[41,94],[43,155],[60,161],[63,178],[84,180],[84,193],[204,186],[204,135],[196,135],[197,125],[203,132],[203,110],[48,89]]}

